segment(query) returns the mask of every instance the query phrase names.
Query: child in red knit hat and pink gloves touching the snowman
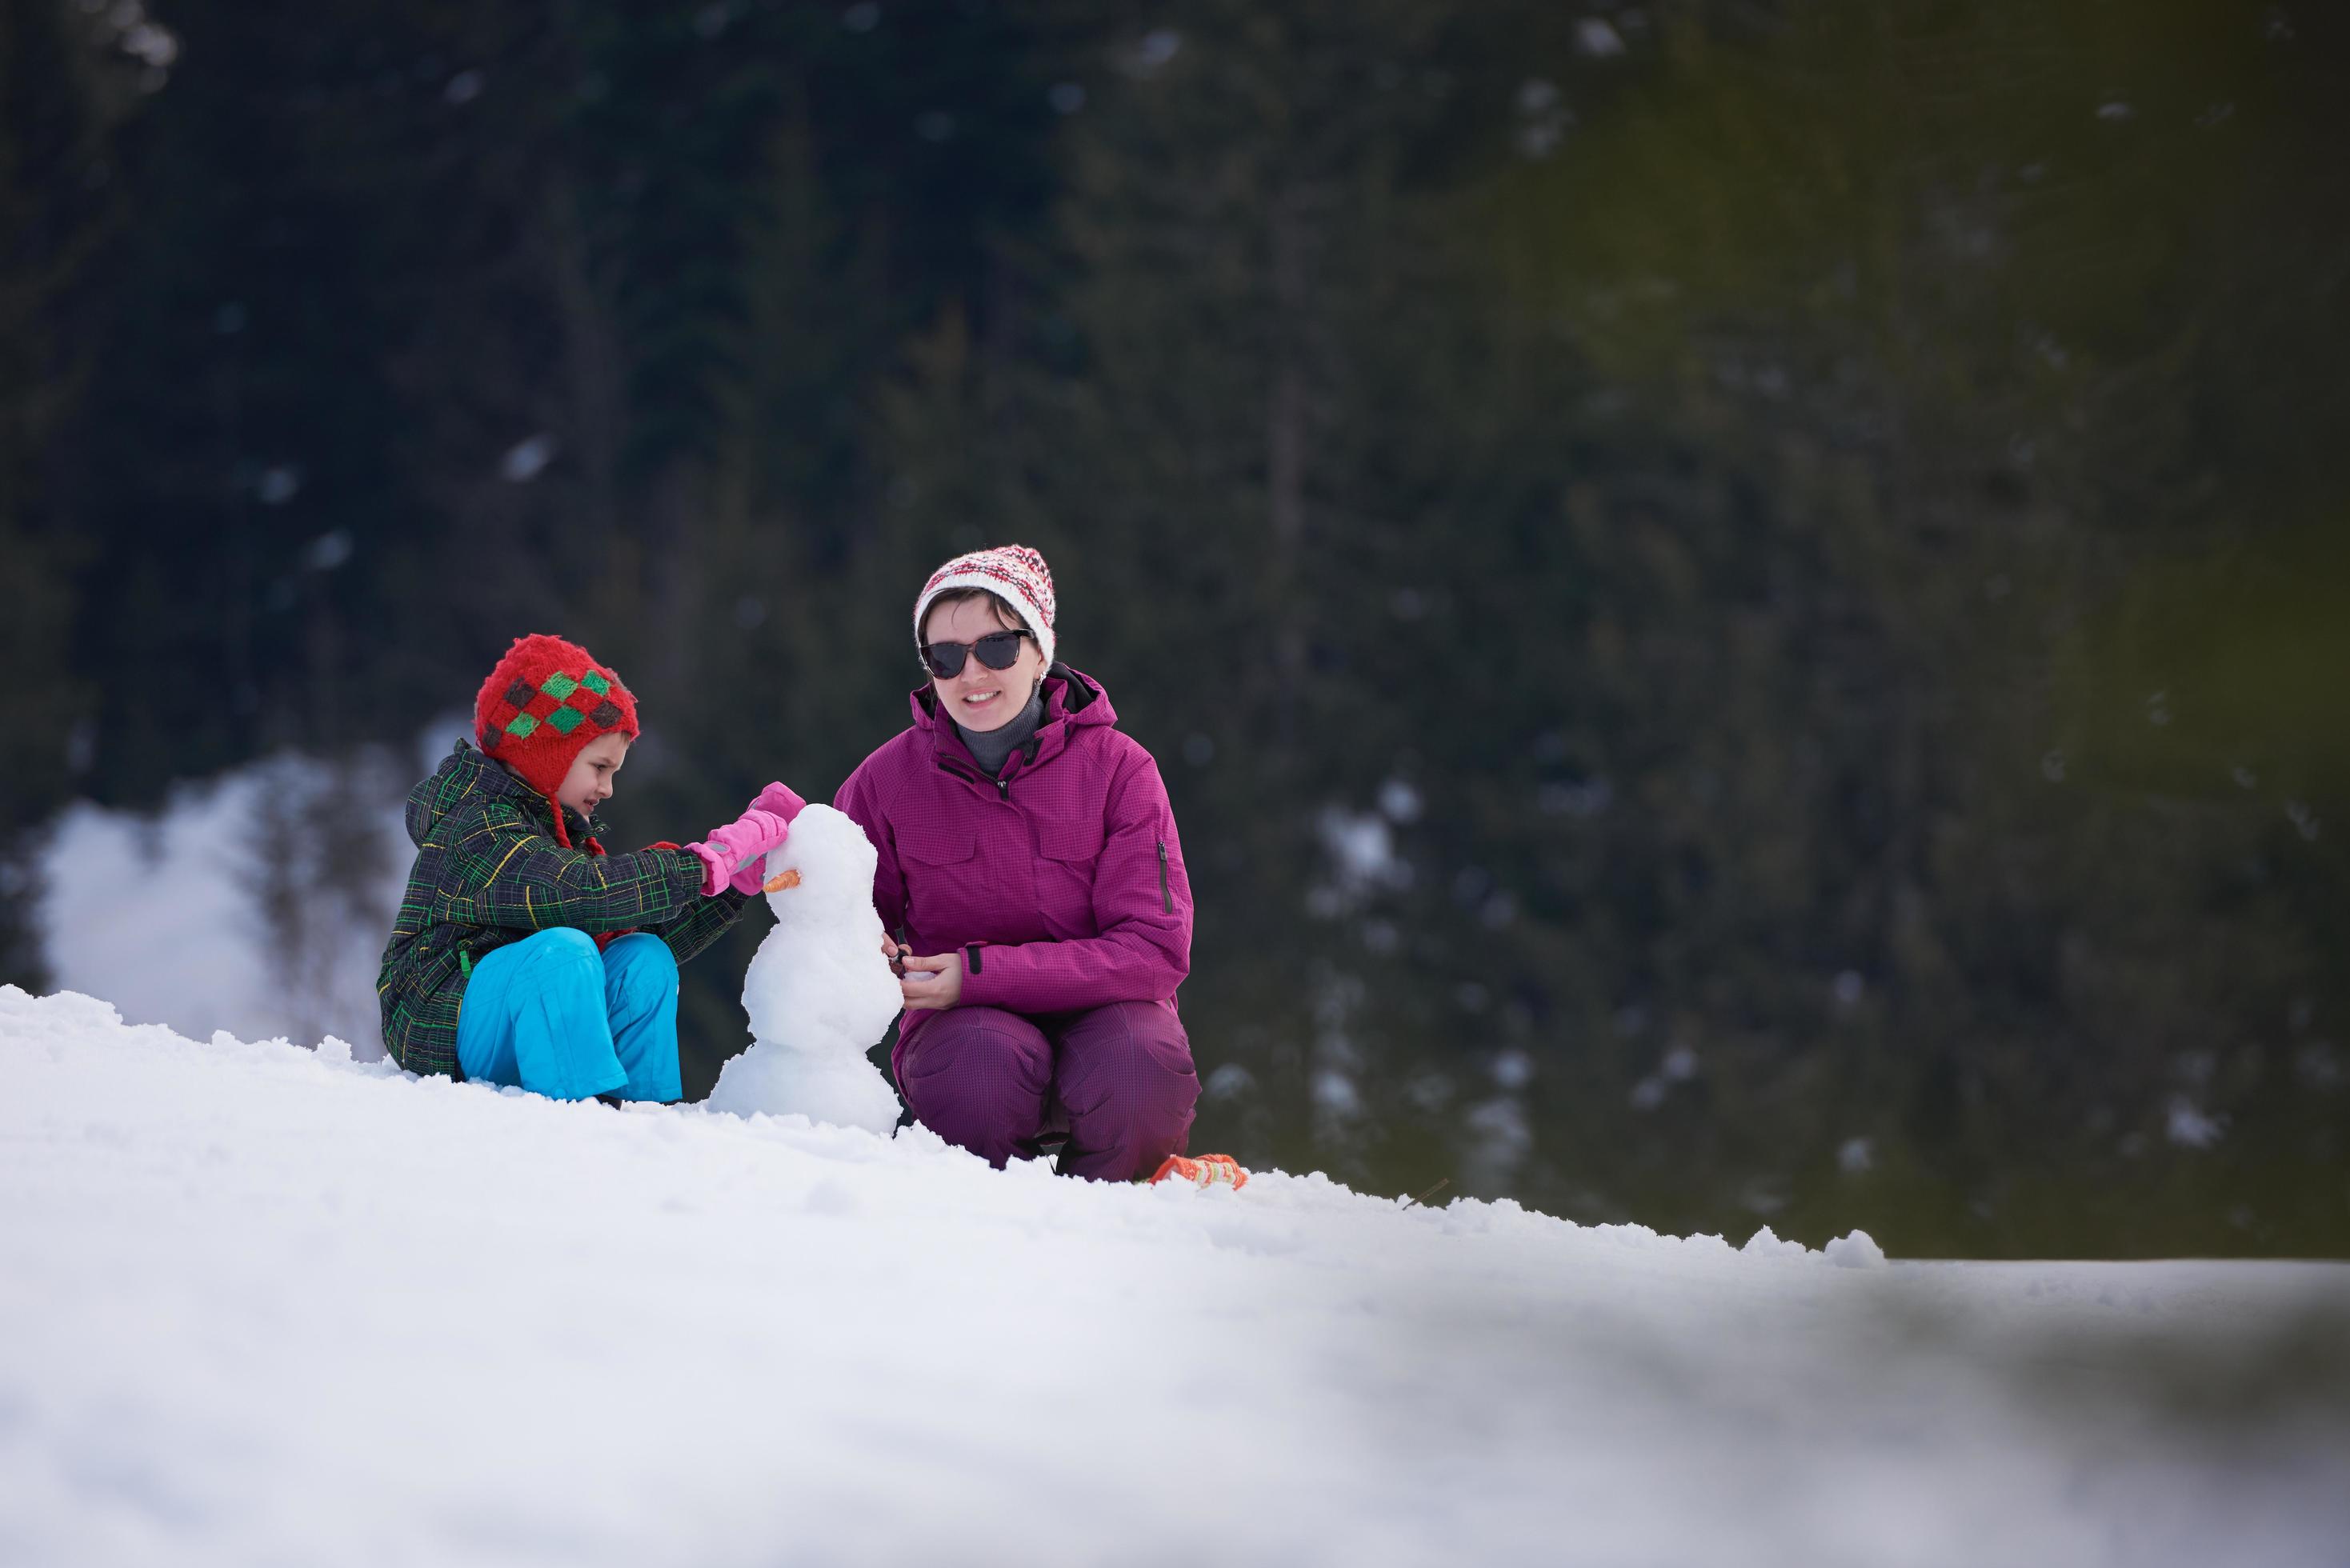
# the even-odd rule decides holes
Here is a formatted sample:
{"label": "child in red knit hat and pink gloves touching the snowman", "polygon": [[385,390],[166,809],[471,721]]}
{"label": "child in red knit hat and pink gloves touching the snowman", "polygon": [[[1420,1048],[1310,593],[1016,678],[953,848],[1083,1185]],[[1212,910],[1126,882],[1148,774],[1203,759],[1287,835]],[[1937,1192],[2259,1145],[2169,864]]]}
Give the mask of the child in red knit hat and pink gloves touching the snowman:
{"label": "child in red knit hat and pink gloves touching the snowman", "polygon": [[698,844],[606,856],[595,809],[637,738],[620,677],[517,637],[409,792],[416,867],[383,947],[383,1046],[409,1072],[555,1100],[677,1100],[677,966],[724,933],[801,799],[771,783]]}

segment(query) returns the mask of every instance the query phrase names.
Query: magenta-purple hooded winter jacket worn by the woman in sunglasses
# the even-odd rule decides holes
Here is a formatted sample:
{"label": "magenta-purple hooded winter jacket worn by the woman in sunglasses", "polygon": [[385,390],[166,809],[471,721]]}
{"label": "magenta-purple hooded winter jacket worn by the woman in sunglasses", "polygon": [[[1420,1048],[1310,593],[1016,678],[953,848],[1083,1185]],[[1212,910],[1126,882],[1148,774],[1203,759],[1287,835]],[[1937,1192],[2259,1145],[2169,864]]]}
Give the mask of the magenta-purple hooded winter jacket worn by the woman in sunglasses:
{"label": "magenta-purple hooded winter jacket worn by the woman in sunglasses", "polygon": [[[1191,882],[1159,764],[1109,693],[1053,665],[1043,724],[989,778],[931,686],[914,726],[834,797],[879,851],[874,910],[914,952],[964,952],[964,1006],[1175,1011],[1191,973]],[[938,1013],[907,1013],[898,1051]]]}

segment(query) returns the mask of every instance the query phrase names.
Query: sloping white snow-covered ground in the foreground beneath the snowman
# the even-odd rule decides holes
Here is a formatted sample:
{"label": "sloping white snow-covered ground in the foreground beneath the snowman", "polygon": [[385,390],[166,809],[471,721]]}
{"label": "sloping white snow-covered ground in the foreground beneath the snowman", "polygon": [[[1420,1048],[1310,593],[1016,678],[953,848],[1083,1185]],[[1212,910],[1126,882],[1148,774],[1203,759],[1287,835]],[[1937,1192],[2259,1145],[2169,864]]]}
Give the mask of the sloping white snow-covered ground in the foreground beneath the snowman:
{"label": "sloping white snow-covered ground in the foreground beneath the snowman", "polygon": [[1090,1187],[0,987],[0,1563],[2343,1563],[2350,1267]]}

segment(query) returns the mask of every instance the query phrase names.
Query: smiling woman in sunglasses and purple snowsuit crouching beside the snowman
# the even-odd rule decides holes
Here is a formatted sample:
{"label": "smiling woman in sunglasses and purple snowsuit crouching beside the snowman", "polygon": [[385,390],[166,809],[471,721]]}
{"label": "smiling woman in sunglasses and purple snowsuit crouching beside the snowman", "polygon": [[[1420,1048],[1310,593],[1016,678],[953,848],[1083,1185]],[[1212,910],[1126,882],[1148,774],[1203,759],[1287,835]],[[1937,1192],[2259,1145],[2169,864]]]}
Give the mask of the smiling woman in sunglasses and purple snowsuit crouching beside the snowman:
{"label": "smiling woman in sunglasses and purple snowsuit crouching beside the snowman", "polygon": [[[1191,884],[1159,764],[1116,731],[1100,682],[1055,663],[1036,550],[931,574],[914,644],[931,677],[914,726],[834,802],[874,842],[874,907],[907,940],[888,943],[898,1088],[994,1166],[1065,1135],[1062,1171],[1166,1175],[1198,1074],[1175,1016]],[[1203,1180],[1201,1161],[1173,1164]]]}

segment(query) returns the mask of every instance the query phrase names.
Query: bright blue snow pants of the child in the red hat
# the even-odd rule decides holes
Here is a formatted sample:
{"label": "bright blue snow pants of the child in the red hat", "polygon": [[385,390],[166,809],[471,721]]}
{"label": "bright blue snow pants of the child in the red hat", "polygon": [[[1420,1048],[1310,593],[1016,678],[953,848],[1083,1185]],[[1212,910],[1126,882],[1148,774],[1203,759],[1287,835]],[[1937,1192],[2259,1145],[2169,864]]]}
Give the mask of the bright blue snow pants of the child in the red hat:
{"label": "bright blue snow pants of the child in the red hat", "polygon": [[482,954],[456,1016],[468,1079],[585,1100],[672,1103],[677,957],[637,931],[604,952],[585,931],[540,931]]}

